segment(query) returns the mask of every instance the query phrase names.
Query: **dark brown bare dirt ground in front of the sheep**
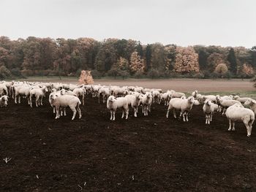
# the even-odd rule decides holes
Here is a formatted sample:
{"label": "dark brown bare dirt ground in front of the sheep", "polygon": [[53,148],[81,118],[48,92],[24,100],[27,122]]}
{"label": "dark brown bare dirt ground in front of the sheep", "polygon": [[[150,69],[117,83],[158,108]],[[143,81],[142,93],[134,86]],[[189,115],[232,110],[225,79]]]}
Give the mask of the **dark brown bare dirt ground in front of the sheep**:
{"label": "dark brown bare dirt ground in front of the sheep", "polygon": [[202,107],[167,119],[163,104],[110,122],[89,97],[82,119],[55,120],[47,98],[0,109],[0,191],[256,191],[256,132],[242,123],[227,131],[215,114],[206,126]]}

